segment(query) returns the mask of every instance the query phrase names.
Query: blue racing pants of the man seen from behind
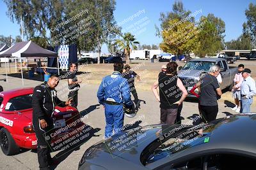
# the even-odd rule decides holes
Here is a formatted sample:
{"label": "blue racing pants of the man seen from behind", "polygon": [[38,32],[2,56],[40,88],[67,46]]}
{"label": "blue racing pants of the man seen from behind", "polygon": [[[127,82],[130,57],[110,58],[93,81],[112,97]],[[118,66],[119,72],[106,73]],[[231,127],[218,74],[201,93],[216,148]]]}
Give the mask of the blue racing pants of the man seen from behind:
{"label": "blue racing pants of the man seen from behind", "polygon": [[[123,105],[105,105],[105,117],[106,117],[106,127],[105,127],[105,138],[113,136],[113,134],[121,131],[124,125],[124,111]],[[114,130],[114,133],[113,133]]]}

